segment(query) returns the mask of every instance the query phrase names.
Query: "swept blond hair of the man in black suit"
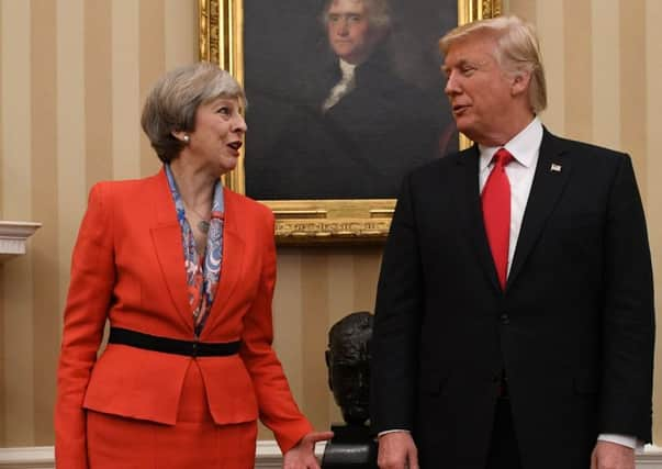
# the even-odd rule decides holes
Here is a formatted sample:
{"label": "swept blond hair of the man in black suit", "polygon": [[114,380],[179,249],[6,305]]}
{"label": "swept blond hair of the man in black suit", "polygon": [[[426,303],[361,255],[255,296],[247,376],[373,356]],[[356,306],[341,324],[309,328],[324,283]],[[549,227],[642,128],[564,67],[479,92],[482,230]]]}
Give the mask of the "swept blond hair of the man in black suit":
{"label": "swept blond hair of the man in black suit", "polygon": [[518,16],[496,16],[463,24],[439,40],[444,54],[453,43],[475,34],[489,33],[496,40],[494,57],[500,67],[509,74],[530,74],[529,105],[535,113],[547,108],[547,85],[540,55],[540,45],[534,26]]}

